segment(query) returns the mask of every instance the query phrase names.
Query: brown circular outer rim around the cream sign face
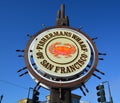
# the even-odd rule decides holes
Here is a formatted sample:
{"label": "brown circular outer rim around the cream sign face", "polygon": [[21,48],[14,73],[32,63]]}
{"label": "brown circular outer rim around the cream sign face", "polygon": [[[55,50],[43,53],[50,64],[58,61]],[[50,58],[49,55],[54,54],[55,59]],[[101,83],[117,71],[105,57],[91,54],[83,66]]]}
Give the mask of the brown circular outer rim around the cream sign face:
{"label": "brown circular outer rim around the cream sign face", "polygon": [[[92,47],[93,47],[92,49],[94,50],[94,63],[91,66],[91,69],[82,78],[78,78],[75,81],[73,80],[72,82],[64,82],[64,83],[62,83],[62,82],[53,82],[53,81],[49,81],[47,79],[44,79],[44,78],[40,77],[32,69],[31,64],[30,64],[30,62],[28,60],[29,47],[30,47],[32,41],[40,33],[44,32],[46,30],[49,30],[49,29],[54,29],[54,28],[68,28],[68,29],[72,29],[72,30],[75,30],[77,32],[80,32],[81,34],[83,34],[83,36],[85,36],[88,39],[88,41],[92,45]],[[52,87],[54,87],[54,88],[60,88],[60,87],[62,87],[62,88],[76,88],[79,85],[81,85],[81,83],[85,83],[91,77],[91,75],[93,74],[94,70],[96,69],[96,66],[98,64],[98,51],[97,51],[97,48],[96,48],[95,44],[93,43],[92,39],[89,38],[85,33],[81,32],[79,29],[72,28],[72,27],[67,27],[67,26],[53,26],[53,27],[49,27],[49,28],[45,28],[43,30],[40,30],[39,32],[37,32],[35,35],[32,36],[32,38],[28,41],[28,43],[26,45],[24,59],[25,59],[25,63],[26,63],[26,66],[28,68],[28,71],[30,72],[30,74],[32,75],[32,77],[37,82],[40,82],[40,83],[48,86],[49,88],[52,88]]]}

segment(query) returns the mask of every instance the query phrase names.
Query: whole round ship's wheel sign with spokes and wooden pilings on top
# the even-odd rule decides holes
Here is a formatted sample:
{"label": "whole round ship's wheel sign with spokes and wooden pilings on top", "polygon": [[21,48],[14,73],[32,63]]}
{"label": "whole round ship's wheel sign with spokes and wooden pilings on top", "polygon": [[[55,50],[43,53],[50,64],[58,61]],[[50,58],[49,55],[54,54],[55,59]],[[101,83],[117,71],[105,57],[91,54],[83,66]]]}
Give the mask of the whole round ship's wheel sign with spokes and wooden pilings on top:
{"label": "whole round ship's wheel sign with spokes and wooden pilings on top", "polygon": [[93,75],[98,79],[94,71],[104,75],[96,69],[99,55],[94,39],[83,33],[80,29],[69,27],[68,17],[64,16],[64,8],[58,12],[57,26],[45,28],[31,36],[24,52],[26,67],[20,69],[47,89],[69,88],[71,90],[80,87],[88,92],[85,83]]}

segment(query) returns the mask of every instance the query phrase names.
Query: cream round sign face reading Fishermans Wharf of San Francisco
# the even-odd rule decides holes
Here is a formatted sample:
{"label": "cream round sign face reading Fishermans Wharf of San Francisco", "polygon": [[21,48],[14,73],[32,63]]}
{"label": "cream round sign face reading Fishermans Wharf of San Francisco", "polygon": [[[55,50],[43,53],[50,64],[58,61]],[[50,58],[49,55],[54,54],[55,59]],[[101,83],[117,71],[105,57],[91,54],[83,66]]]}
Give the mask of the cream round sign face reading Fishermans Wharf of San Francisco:
{"label": "cream round sign face reading Fishermans Wharf of San Francisco", "polygon": [[66,28],[46,30],[34,39],[33,59],[38,70],[56,77],[80,73],[90,61],[89,44],[79,32]]}

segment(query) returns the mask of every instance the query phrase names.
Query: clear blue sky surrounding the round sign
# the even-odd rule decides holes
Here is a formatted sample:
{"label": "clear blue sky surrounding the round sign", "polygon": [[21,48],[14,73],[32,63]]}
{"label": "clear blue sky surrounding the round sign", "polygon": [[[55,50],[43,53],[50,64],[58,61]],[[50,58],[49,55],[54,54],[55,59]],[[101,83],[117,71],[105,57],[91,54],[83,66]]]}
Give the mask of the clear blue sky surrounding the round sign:
{"label": "clear blue sky surrounding the round sign", "polygon": [[[56,13],[65,4],[70,26],[83,27],[82,31],[91,38],[98,37],[99,52],[107,53],[98,67],[105,72],[102,80],[91,77],[86,83],[89,89],[83,96],[79,89],[73,93],[81,95],[82,101],[97,103],[96,86],[109,81],[114,103],[120,101],[120,2],[119,0],[0,0],[0,95],[3,103],[17,103],[26,98],[28,88],[35,86],[29,75],[19,77],[16,72],[25,66],[24,59],[18,58],[16,49],[24,49],[29,37],[47,27],[54,26]],[[40,99],[45,100],[48,90],[40,89]],[[108,99],[108,98],[107,98]]]}

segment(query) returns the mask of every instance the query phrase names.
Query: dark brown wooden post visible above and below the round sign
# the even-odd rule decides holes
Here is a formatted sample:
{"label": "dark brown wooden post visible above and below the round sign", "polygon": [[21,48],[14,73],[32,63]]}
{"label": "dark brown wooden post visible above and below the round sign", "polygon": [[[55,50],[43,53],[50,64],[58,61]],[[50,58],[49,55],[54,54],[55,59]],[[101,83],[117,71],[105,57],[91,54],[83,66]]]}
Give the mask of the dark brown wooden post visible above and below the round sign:
{"label": "dark brown wooden post visible above and below the round sign", "polygon": [[[58,10],[56,18],[56,26],[69,26],[68,16],[65,16],[64,5]],[[71,90],[68,88],[51,88],[50,103],[71,103]]]}

